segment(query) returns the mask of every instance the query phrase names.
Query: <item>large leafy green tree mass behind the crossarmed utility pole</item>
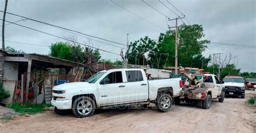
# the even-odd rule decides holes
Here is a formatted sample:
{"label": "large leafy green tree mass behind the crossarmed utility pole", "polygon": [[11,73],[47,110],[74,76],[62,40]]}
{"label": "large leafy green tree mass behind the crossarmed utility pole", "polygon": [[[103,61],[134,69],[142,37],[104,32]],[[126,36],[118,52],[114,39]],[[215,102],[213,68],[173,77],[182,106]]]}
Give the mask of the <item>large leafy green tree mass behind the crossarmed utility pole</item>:
{"label": "large leafy green tree mass behind the crossarmed utility pole", "polygon": [[[202,40],[205,36],[202,25],[187,25],[178,31],[178,65],[184,67],[207,67],[210,57],[203,57],[209,40]],[[145,48],[147,64],[153,68],[163,68],[164,66],[174,66],[175,60],[175,32],[166,31],[160,33],[158,41],[149,37],[134,41],[129,46],[129,64],[143,64],[143,50]]]}

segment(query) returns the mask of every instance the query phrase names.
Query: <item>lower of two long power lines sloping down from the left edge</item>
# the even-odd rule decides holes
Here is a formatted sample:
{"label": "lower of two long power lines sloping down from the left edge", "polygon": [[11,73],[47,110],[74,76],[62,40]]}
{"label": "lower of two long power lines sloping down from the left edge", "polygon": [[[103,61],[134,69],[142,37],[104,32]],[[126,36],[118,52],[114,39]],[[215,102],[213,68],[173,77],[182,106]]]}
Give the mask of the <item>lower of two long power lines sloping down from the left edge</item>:
{"label": "lower of two long power lines sloping down from the left edge", "polygon": [[[0,20],[3,20],[3,19],[0,19]],[[5,20],[5,21],[9,22],[7,20]],[[9,22],[9,23],[12,23],[12,22]],[[63,38],[63,37],[59,37],[59,36],[56,36],[54,34],[50,34],[50,33],[46,33],[46,32],[43,32],[43,31],[36,30],[36,29],[32,29],[31,27],[27,27],[27,26],[24,26],[24,25],[16,24],[16,23],[12,23],[12,24],[15,24],[15,25],[18,25],[18,26],[22,26],[22,27],[25,27],[26,29],[30,29],[30,30],[33,30],[33,31],[37,31],[37,32],[41,32],[41,33],[44,33],[44,34],[48,34],[48,35],[53,36],[53,37],[57,37],[57,38],[64,39],[64,40],[68,40],[68,41],[71,41],[71,42],[74,42],[74,43],[77,43],[77,44],[80,44],[80,45],[84,45],[84,46],[87,46],[87,47],[95,48],[95,49],[100,50],[100,51],[104,51],[104,52],[108,52],[108,53],[112,53],[112,54],[117,54],[117,53],[113,53],[113,52],[110,52],[110,51],[102,50],[102,49],[99,49],[99,48],[96,48],[96,47],[92,47],[92,46],[89,46],[89,45],[85,45],[85,44],[82,44],[82,43],[78,43],[76,41],[69,40],[69,39],[66,39],[66,38]],[[117,55],[119,55],[119,54],[117,54]]]}

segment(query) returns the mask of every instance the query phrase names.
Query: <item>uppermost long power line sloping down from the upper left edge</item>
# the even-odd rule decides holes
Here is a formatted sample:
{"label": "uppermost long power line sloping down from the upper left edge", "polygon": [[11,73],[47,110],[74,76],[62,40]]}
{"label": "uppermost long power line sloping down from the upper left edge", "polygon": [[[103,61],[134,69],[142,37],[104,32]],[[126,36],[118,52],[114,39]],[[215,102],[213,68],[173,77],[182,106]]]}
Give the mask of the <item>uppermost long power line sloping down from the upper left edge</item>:
{"label": "uppermost long power line sloping down from the upper left edge", "polygon": [[[4,12],[4,11],[0,10],[0,12]],[[68,31],[72,31],[72,32],[77,32],[77,33],[79,33],[79,34],[83,34],[84,36],[93,37],[93,38],[97,38],[97,39],[101,39],[101,40],[109,41],[109,42],[114,43],[114,44],[119,44],[119,45],[124,45],[124,46],[126,46],[125,44],[117,43],[117,42],[115,42],[115,41],[107,40],[107,39],[100,38],[100,37],[96,37],[96,36],[91,36],[91,35],[89,35],[89,34],[85,34],[85,33],[82,33],[82,32],[78,32],[78,31],[75,31],[75,30],[66,29],[65,27],[61,27],[61,26],[57,26],[57,25],[53,25],[53,24],[49,24],[49,23],[42,22],[42,21],[39,21],[39,20],[36,20],[36,19],[32,19],[32,18],[28,18],[28,17],[24,17],[24,16],[16,15],[16,14],[14,14],[14,13],[10,13],[10,12],[6,12],[6,13],[8,13],[8,14],[10,14],[10,15],[14,15],[14,16],[18,16],[18,17],[26,18],[26,19],[29,19],[29,20],[32,20],[32,21],[35,21],[35,22],[38,22],[38,23],[42,23],[42,24],[46,24],[46,25],[55,26],[55,27],[58,27],[58,28],[60,28],[60,29],[64,29],[64,30],[68,30]]]}

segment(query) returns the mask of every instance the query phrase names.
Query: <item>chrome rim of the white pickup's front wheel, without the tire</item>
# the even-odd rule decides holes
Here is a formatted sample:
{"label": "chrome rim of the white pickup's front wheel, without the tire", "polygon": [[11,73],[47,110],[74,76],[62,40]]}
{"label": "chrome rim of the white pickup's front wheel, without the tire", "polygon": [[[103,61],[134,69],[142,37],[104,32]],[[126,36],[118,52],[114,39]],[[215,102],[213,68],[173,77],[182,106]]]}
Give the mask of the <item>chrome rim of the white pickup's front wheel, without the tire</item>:
{"label": "chrome rim of the white pickup's front wheel, without the tire", "polygon": [[92,111],[92,104],[88,100],[82,100],[77,104],[77,111],[80,115],[88,115]]}

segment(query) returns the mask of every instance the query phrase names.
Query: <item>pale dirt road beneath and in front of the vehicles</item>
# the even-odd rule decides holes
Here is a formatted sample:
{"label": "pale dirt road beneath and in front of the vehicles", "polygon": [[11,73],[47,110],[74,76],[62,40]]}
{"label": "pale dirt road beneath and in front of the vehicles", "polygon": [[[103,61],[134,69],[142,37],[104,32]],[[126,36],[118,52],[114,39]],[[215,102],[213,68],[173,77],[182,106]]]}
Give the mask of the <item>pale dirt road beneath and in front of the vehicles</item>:
{"label": "pale dirt road beneath and in front of the vehicles", "polygon": [[[156,109],[103,109],[88,118],[52,111],[0,122],[0,132],[256,132],[256,109],[245,99],[213,101],[210,109],[183,103],[167,113]],[[151,105],[154,106],[154,105]]]}

